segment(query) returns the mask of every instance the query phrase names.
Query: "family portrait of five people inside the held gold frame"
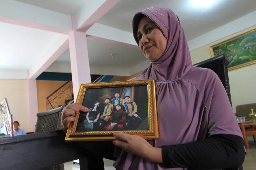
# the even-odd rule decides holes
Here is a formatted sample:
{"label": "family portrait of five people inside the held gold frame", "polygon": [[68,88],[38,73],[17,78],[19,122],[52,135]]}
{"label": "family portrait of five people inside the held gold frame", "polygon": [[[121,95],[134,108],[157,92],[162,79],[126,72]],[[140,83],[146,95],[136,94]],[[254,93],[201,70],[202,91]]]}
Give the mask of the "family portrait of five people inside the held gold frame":
{"label": "family portrait of five people inside the held gold frame", "polygon": [[87,89],[76,132],[147,130],[147,86]]}

